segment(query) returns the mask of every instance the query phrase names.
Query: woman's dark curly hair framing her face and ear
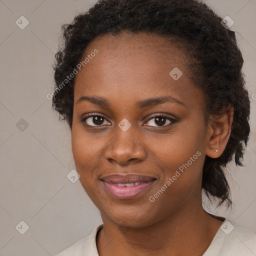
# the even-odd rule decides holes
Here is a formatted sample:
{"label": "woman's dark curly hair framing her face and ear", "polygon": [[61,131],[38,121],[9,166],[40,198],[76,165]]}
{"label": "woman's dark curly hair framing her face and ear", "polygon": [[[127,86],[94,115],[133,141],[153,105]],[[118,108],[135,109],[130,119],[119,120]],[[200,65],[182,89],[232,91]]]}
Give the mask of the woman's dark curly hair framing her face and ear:
{"label": "woman's dark curly hair framing her face and ear", "polygon": [[[250,102],[241,68],[243,58],[233,31],[221,24],[222,18],[205,3],[196,0],[99,0],[87,12],[63,24],[62,46],[53,65],[55,88],[52,108],[72,128],[74,78],[63,80],[81,61],[86,46],[97,36],[154,33],[170,39],[182,48],[189,62],[190,79],[205,95],[205,120],[233,107],[231,134],[218,158],[206,155],[201,188],[209,199],[232,204],[224,167],[234,155],[235,164],[243,166],[247,145]],[[243,145],[245,144],[245,147]]]}

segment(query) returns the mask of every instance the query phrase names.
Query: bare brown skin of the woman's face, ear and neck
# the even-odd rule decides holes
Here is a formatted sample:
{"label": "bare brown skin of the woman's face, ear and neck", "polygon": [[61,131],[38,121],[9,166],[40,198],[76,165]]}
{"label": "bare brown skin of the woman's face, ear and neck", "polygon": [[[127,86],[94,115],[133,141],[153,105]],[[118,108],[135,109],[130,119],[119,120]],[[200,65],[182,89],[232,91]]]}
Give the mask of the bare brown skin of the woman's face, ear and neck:
{"label": "bare brown skin of the woman's face, ear and neck", "polygon": [[[95,48],[98,53],[75,77],[71,141],[80,182],[104,224],[96,239],[99,256],[202,255],[222,223],[201,206],[203,162],[205,155],[214,158],[224,151],[233,112],[205,120],[204,95],[189,80],[187,56],[160,36],[103,35],[87,46],[82,59]],[[183,73],[178,80],[169,75],[174,67]],[[139,100],[166,95],[183,104],[136,106]],[[81,96],[104,97],[110,106],[76,103]],[[154,113],[176,122],[165,119],[160,126]],[[85,114],[105,119],[81,122]],[[126,131],[118,126],[123,118],[131,124]],[[197,151],[200,156],[151,202],[149,196]],[[116,199],[100,180],[116,173],[156,180],[134,198]]]}

